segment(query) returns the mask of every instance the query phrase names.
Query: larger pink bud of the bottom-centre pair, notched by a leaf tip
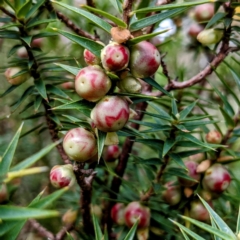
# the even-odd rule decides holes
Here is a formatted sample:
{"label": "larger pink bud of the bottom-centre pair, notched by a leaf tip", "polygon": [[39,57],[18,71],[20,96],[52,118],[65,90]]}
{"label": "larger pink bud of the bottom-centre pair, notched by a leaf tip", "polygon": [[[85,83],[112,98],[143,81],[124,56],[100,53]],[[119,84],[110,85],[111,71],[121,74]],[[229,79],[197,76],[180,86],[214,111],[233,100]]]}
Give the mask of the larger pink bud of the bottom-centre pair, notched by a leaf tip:
{"label": "larger pink bud of the bottom-centre pair, notched by a leaf tip", "polygon": [[131,202],[125,209],[124,218],[129,228],[131,228],[138,219],[138,228],[146,228],[150,223],[150,209],[142,206],[139,202]]}

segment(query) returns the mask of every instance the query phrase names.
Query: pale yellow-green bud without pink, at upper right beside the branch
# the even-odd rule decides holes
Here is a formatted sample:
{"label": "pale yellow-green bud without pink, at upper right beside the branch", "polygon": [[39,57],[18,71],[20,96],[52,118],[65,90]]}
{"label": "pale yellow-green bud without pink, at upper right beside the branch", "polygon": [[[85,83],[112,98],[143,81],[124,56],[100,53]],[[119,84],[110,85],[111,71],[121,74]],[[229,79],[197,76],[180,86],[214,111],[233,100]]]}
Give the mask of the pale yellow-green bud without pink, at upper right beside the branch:
{"label": "pale yellow-green bud without pink, at upper right beside the branch", "polygon": [[197,40],[203,45],[211,45],[218,43],[222,39],[222,37],[222,30],[211,28],[201,31],[197,36]]}

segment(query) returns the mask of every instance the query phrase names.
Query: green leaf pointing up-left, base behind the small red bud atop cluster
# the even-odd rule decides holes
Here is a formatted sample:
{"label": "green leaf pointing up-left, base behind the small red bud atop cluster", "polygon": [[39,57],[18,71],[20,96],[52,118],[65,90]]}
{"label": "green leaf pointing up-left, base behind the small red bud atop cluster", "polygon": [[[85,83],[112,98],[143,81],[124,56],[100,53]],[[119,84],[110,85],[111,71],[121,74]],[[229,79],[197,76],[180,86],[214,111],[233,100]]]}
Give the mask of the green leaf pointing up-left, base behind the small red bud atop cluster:
{"label": "green leaf pointing up-left, base behind the small red bud atop cluster", "polygon": [[104,48],[104,46],[97,43],[96,41],[90,40],[90,39],[85,38],[85,37],[78,36],[78,35],[73,34],[73,33],[62,31],[62,30],[57,29],[57,28],[54,28],[54,31],[57,31],[61,35],[70,39],[71,41],[73,41],[73,42],[79,44],[80,46],[88,49],[90,52],[92,52],[97,57],[100,57],[101,50]]}

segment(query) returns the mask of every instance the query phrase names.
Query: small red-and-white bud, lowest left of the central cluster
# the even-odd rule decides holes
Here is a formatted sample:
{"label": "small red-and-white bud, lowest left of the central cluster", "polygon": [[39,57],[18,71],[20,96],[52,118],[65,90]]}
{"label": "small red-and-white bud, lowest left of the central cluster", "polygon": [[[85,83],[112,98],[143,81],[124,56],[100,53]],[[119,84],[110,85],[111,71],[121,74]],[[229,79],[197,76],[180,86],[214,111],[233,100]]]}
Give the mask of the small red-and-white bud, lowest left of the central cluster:
{"label": "small red-and-white bud, lowest left of the central cluster", "polygon": [[56,165],[51,169],[50,181],[56,188],[71,187],[75,179],[73,166],[71,164]]}

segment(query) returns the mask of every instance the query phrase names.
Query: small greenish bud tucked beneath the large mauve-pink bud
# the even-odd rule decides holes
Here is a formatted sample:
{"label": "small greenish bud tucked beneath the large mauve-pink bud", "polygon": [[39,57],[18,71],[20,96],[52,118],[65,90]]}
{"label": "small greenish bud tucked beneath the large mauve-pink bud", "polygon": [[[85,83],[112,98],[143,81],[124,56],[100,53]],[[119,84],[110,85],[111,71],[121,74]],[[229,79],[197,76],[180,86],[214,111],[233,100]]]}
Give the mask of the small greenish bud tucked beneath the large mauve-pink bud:
{"label": "small greenish bud tucked beneath the large mauve-pink bud", "polygon": [[140,93],[142,85],[138,79],[131,74],[122,74],[121,79],[117,82],[117,86],[124,92]]}

